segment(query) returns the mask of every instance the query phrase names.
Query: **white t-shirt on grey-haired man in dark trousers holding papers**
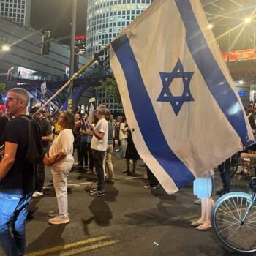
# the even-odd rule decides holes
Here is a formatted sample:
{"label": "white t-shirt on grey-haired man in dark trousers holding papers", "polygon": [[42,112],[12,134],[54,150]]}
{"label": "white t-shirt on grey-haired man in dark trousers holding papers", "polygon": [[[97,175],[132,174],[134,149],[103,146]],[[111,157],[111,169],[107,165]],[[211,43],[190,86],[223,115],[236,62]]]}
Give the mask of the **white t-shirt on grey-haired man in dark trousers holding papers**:
{"label": "white t-shirt on grey-haired man in dark trousers holding papers", "polygon": [[106,151],[108,148],[108,121],[105,118],[100,119],[95,127],[97,132],[103,132],[104,136],[98,140],[95,136],[91,139],[91,148],[99,151]]}

